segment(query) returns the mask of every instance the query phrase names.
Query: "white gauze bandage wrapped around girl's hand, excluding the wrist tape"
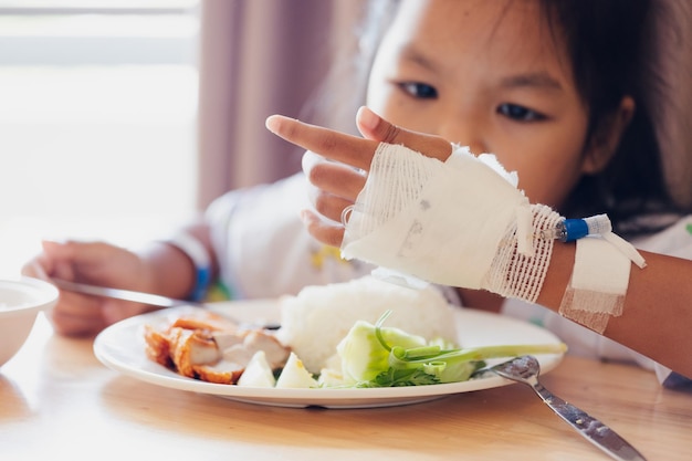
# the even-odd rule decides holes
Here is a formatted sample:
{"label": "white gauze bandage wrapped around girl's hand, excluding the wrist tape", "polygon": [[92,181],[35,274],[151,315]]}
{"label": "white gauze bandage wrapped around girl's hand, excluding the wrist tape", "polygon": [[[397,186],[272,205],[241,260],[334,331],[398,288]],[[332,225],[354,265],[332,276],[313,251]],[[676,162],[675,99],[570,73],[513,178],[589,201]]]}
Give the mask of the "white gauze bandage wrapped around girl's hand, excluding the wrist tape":
{"label": "white gauze bandage wrapped around girl's hand, excluding the wrist tape", "polygon": [[493,155],[453,146],[444,161],[380,144],[346,212],[342,253],[432,283],[535,302],[560,221],[532,206]]}

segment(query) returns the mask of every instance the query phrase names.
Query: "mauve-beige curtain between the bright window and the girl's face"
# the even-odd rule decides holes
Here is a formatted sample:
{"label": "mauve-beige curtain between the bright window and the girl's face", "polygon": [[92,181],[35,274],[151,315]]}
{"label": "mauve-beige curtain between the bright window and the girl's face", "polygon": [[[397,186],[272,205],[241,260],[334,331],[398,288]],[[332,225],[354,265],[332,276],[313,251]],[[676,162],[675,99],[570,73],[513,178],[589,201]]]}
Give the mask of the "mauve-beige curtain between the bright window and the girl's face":
{"label": "mauve-beige curtain between the bright window and the girl's face", "polygon": [[[314,97],[363,0],[203,0],[198,207],[300,169],[302,151],[264,128],[279,113],[313,119]],[[350,56],[346,56],[350,59]],[[324,124],[324,121],[321,121]]]}

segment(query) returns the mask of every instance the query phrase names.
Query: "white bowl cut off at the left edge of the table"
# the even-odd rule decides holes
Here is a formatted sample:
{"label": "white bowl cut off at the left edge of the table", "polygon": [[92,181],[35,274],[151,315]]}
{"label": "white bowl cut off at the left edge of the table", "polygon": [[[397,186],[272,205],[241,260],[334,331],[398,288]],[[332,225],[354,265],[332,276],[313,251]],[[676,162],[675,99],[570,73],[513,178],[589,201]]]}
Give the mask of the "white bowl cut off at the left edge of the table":
{"label": "white bowl cut off at the left edge of the table", "polygon": [[0,366],[22,347],[39,312],[57,302],[55,286],[38,279],[0,280]]}

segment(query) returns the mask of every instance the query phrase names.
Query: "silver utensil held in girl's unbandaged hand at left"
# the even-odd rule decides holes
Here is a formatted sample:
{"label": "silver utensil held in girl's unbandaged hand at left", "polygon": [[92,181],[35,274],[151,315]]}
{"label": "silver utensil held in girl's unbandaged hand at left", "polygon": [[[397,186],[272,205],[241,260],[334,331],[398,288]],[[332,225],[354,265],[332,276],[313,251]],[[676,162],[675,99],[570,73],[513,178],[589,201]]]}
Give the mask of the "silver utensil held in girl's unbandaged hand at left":
{"label": "silver utensil held in girl's unbandaged hand at left", "polygon": [[[55,286],[57,286],[60,290],[88,294],[92,296],[104,296],[104,297],[112,297],[115,300],[132,301],[135,303],[143,303],[143,304],[148,304],[148,305],[157,306],[157,307],[193,306],[193,307],[209,308],[209,305],[205,303],[197,303],[193,301],[186,301],[186,300],[176,300],[174,297],[161,296],[161,295],[153,294],[153,293],[144,293],[144,292],[136,292],[132,290],[122,290],[122,289],[111,289],[106,286],[90,285],[86,283],[70,282],[70,281],[61,280],[61,279],[49,279],[49,281],[53,283]],[[260,324],[260,323],[243,322],[243,321],[233,318],[226,311],[222,313],[219,312],[219,314],[223,315],[231,322],[237,323],[239,327],[241,328],[279,329],[280,327],[280,325],[276,323]]]}

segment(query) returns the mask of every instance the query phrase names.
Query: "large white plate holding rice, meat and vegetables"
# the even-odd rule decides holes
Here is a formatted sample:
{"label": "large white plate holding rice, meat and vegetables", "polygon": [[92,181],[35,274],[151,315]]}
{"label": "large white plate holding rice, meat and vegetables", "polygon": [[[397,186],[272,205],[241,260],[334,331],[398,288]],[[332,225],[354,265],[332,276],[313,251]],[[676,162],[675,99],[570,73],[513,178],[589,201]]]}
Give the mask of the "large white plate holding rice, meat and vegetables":
{"label": "large white plate holding rice, meat and vegetables", "polygon": [[[218,303],[213,310],[232,312],[234,318],[252,321],[279,319],[274,301]],[[221,396],[259,405],[279,407],[370,408],[417,404],[451,394],[489,389],[511,384],[497,376],[474,378],[462,383],[431,386],[410,386],[375,389],[272,389],[251,388],[206,383],[167,369],[146,357],[143,327],[156,325],[171,315],[180,315],[185,307],[158,311],[119,322],[104,329],[94,342],[96,357],[107,367],[124,375],[174,389]],[[559,338],[538,326],[511,317],[459,310],[454,313],[459,342],[464,347],[508,344],[555,344]],[[555,368],[562,354],[539,355],[542,373]]]}

